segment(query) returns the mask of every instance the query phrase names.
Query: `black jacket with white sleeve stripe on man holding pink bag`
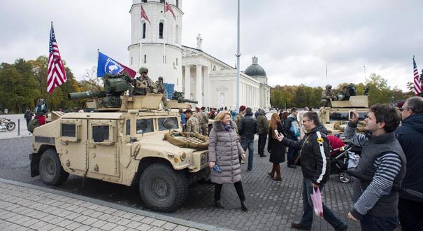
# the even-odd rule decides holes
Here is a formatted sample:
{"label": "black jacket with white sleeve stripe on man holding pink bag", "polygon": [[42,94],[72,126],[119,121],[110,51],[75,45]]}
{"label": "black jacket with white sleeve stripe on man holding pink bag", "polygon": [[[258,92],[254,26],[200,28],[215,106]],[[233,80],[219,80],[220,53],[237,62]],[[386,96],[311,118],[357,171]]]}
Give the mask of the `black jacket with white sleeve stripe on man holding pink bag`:
{"label": "black jacket with white sleeve stripe on man holding pink bag", "polygon": [[282,139],[282,143],[286,146],[301,148],[299,155],[301,155],[303,177],[317,185],[329,180],[331,170],[329,162],[330,146],[326,134],[327,129],[319,124],[306,133],[306,136],[300,141],[292,141],[287,137]]}

